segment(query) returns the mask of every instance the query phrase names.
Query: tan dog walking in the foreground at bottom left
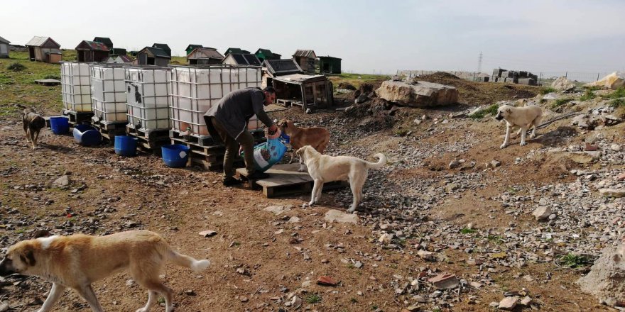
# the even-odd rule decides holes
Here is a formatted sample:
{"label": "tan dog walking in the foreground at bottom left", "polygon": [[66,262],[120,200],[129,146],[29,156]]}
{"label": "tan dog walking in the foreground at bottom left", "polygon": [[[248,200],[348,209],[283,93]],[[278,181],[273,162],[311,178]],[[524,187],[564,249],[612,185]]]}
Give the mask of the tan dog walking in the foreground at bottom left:
{"label": "tan dog walking in the foreground at bottom left", "polygon": [[148,289],[148,303],[137,312],[150,311],[158,294],[165,297],[165,311],[171,312],[171,289],[158,278],[168,260],[195,272],[210,264],[208,260],[198,261],[175,252],[156,233],[134,230],[106,236],[55,235],[23,240],[9,247],[0,262],[0,275],[34,275],[53,282],[48,299],[38,312],[51,311],[66,287],[85,298],[92,311],[103,312],[91,284],[128,269],[131,277]]}

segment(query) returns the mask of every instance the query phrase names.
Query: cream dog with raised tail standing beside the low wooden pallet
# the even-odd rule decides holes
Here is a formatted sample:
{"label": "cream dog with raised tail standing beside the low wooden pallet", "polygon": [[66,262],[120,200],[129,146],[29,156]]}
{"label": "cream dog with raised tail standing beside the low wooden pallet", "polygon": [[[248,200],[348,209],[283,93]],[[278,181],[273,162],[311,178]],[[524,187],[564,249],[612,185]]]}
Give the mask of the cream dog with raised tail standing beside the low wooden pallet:
{"label": "cream dog with raised tail standing beside the low wooden pallet", "polygon": [[386,164],[386,156],[384,154],[376,154],[374,157],[379,158],[378,162],[367,162],[357,157],[351,156],[328,156],[321,155],[310,145],[306,145],[295,154],[300,157],[300,172],[305,170],[304,165],[308,167],[308,174],[314,180],[312,186],[312,195],[308,205],[317,203],[321,197],[321,190],[325,182],[332,181],[348,181],[349,187],[352,189],[354,201],[352,206],[347,210],[354,212],[360,200],[362,199],[362,186],[366,181],[369,169],[379,169]]}

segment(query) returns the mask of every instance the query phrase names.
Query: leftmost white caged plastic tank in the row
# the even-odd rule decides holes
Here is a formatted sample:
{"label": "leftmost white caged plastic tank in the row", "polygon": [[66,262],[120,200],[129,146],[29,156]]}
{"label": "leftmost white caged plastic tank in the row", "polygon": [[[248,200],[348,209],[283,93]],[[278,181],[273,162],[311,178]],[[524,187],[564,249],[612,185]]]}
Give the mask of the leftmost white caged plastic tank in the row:
{"label": "leftmost white caged plastic tank in the row", "polygon": [[92,111],[89,76],[89,63],[61,62],[61,93],[65,109],[77,113]]}

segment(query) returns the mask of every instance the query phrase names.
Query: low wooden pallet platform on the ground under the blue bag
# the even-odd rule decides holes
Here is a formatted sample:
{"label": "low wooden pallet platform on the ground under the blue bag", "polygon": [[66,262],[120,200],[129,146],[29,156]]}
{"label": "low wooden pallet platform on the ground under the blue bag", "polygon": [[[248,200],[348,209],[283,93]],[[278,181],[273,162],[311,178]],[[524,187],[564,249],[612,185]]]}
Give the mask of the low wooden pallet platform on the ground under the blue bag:
{"label": "low wooden pallet platform on the ground under the blue bag", "polygon": [[[312,191],[312,177],[308,172],[298,172],[300,164],[274,165],[266,171],[267,179],[249,181],[252,188],[262,188],[263,195],[268,199],[290,194],[310,194]],[[237,169],[240,179],[247,180],[247,170]],[[323,184],[323,190],[338,189],[348,186],[346,181],[328,182]]]}

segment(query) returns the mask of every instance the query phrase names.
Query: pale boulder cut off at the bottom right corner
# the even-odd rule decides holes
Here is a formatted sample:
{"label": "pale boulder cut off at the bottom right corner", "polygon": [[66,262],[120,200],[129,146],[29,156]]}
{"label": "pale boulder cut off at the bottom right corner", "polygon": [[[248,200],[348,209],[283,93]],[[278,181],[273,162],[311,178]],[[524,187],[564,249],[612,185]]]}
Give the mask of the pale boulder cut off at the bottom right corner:
{"label": "pale boulder cut off at the bottom right corner", "polygon": [[604,303],[625,301],[625,244],[606,247],[590,272],[577,280],[582,291]]}

